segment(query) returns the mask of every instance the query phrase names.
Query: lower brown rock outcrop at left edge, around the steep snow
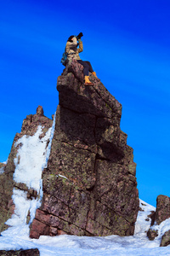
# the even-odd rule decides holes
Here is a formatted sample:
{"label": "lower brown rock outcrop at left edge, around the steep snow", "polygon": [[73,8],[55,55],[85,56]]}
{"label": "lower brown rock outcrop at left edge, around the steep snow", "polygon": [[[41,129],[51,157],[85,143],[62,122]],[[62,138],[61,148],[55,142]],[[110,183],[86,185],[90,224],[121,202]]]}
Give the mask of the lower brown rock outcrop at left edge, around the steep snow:
{"label": "lower brown rock outcrop at left edge, around the steep snow", "polygon": [[35,197],[36,195],[36,192],[32,189],[28,189],[26,184],[14,183],[13,174],[15,169],[14,158],[18,150],[18,147],[15,147],[15,143],[24,135],[33,136],[37,131],[38,125],[43,126],[41,137],[43,137],[46,131],[53,125],[53,120],[43,115],[41,106],[38,106],[36,114],[30,114],[24,119],[21,132],[16,133],[14,137],[14,142],[10,154],[8,155],[8,163],[6,166],[3,166],[4,172],[0,174],[0,233],[8,228],[4,223],[14,213],[14,203],[11,199],[14,187],[28,191],[28,196],[33,195]]}

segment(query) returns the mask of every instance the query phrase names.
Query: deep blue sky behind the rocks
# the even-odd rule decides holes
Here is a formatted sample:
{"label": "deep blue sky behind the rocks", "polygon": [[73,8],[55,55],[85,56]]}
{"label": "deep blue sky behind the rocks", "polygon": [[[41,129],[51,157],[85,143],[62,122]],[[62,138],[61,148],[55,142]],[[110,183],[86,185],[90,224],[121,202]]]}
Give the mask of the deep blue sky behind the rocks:
{"label": "deep blue sky behind the rocks", "polygon": [[5,0],[0,3],[0,161],[26,115],[51,118],[67,38],[83,33],[91,61],[122,103],[122,131],[134,149],[139,197],[170,196],[169,0]]}

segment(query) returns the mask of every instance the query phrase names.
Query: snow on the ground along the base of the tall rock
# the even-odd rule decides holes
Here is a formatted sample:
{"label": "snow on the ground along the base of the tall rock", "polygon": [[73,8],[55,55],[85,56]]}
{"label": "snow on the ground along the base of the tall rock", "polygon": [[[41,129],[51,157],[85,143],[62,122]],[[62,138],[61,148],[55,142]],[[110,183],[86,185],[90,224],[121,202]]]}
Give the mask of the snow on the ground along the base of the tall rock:
{"label": "snow on the ground along the base of the tall rock", "polygon": [[[155,241],[149,241],[146,230],[150,227],[148,214],[155,207],[140,200],[140,207],[144,212],[139,212],[134,236],[40,236],[38,240],[30,239],[29,228],[26,224],[18,224],[3,231],[0,237],[0,249],[35,248],[40,250],[41,256],[51,255],[170,255],[170,247],[159,247],[161,236]],[[166,228],[168,220],[162,223]]]}

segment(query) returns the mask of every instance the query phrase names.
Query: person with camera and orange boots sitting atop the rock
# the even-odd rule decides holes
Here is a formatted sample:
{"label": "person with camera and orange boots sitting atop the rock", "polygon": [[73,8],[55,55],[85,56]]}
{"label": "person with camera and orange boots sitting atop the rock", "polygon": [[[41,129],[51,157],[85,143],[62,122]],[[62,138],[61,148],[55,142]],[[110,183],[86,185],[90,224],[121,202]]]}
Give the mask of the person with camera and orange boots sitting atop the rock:
{"label": "person with camera and orange boots sitting atop the rock", "polygon": [[[82,52],[83,50],[82,40],[81,40],[82,36],[83,36],[82,32],[80,32],[78,36],[71,36],[70,38],[68,38],[65,51],[67,53],[68,60],[75,59],[78,61],[78,63],[80,63],[84,67],[83,69],[83,74],[85,79],[84,84],[94,85],[93,83],[90,82],[89,75],[88,75],[88,73],[90,72],[97,78],[92,65],[90,64],[89,61],[82,61],[79,56],[79,53]],[[77,43],[77,40],[78,40],[78,43]],[[79,47],[77,48],[78,45]]]}

